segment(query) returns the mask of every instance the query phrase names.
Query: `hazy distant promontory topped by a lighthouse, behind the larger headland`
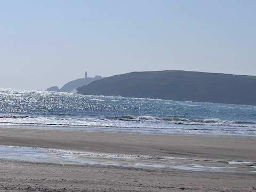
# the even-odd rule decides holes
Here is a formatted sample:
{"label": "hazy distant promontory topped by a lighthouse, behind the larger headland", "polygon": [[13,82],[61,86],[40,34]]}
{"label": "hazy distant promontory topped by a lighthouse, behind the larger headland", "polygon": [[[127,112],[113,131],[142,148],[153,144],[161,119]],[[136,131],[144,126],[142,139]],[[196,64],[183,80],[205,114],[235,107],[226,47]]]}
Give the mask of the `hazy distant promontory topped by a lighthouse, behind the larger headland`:
{"label": "hazy distant promontory topped by a lighthouse, behind the larger headland", "polygon": [[87,85],[93,81],[101,79],[100,75],[96,75],[95,77],[87,77],[87,71],[85,71],[84,78],[79,78],[74,81],[70,81],[63,85],[61,89],[58,86],[52,86],[48,88],[46,91],[58,91],[58,92],[73,92],[77,89],[77,87]]}

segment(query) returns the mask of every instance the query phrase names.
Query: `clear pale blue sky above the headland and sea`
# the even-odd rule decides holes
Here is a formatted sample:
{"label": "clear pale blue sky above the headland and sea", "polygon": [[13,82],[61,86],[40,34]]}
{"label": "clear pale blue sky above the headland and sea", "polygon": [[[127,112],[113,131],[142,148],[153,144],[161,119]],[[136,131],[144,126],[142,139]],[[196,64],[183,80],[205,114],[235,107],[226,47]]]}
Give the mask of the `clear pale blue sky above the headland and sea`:
{"label": "clear pale blue sky above the headland and sea", "polygon": [[0,0],[0,87],[132,71],[256,75],[254,0]]}

